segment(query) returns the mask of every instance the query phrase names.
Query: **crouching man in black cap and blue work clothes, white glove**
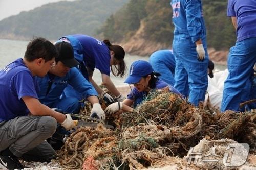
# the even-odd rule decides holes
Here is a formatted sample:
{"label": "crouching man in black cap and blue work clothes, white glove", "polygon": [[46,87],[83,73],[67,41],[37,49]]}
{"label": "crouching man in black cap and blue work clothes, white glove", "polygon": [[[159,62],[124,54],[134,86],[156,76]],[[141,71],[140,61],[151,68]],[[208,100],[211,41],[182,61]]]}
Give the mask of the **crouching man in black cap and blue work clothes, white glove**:
{"label": "crouching man in black cap and blue work clothes, white glove", "polygon": [[[104,120],[105,113],[99,104],[98,93],[75,67],[79,63],[74,58],[72,45],[62,41],[56,43],[55,47],[59,52],[59,56],[55,58],[56,65],[48,71],[45,77],[37,79],[40,87],[38,93],[40,102],[50,108],[78,114],[81,107],[78,99],[61,96],[64,89],[70,85],[92,104],[91,117]],[[47,141],[55,150],[59,150],[64,144],[65,134],[68,133],[58,125],[54,135]]]}

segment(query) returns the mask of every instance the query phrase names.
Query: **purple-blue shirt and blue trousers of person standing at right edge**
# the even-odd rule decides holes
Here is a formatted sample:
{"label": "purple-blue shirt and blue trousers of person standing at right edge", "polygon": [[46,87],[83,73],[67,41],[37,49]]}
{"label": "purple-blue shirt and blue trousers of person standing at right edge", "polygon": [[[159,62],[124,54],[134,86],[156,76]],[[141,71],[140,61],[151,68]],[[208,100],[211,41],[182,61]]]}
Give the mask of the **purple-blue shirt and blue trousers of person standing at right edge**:
{"label": "purple-blue shirt and blue trousers of person standing at right edge", "polygon": [[[244,95],[253,93],[253,66],[256,62],[256,1],[229,0],[227,16],[237,18],[237,42],[230,48],[227,66],[228,77],[224,83],[221,111],[240,111]],[[249,85],[247,84],[250,81]],[[244,87],[248,88],[244,88]],[[251,91],[250,91],[251,90]]]}

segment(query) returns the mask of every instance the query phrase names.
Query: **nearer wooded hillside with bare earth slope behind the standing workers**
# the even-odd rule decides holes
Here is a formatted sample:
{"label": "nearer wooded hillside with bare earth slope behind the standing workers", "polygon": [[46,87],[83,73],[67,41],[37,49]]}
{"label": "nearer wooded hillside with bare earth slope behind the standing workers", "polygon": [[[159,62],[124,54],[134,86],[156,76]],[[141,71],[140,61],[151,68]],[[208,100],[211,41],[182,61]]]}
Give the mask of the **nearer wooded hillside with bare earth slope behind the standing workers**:
{"label": "nearer wooded hillside with bare earth slope behind the standing workers", "polygon": [[[227,1],[203,0],[208,47],[216,50],[227,50],[236,41],[236,32],[231,19],[226,16],[226,7]],[[106,20],[98,33],[123,43],[129,52],[136,54],[145,48],[150,54],[157,48],[170,47],[173,30],[169,0],[130,0]]]}

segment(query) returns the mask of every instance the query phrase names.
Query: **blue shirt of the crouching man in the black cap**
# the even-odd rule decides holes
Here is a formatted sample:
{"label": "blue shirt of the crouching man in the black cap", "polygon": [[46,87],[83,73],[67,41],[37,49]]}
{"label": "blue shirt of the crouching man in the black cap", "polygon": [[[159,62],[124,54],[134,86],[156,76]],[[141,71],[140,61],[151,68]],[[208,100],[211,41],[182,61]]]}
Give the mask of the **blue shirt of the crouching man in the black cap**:
{"label": "blue shirt of the crouching man in the black cap", "polygon": [[80,92],[83,98],[88,98],[92,95],[98,96],[93,85],[82,76],[76,67],[71,68],[64,77],[55,76],[50,79],[49,74],[47,74],[43,78],[37,78],[37,80],[40,88],[38,92],[39,100],[49,107],[60,98],[60,95],[68,85]]}

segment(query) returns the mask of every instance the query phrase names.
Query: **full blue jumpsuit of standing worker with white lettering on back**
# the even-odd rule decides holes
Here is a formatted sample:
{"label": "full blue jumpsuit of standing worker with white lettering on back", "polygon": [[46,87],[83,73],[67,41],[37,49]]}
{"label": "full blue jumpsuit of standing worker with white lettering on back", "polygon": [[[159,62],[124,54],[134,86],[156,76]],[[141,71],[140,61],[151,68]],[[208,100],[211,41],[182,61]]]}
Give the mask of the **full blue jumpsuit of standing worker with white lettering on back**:
{"label": "full blue jumpsuit of standing worker with white lettering on back", "polygon": [[[204,101],[208,87],[207,67],[209,57],[206,44],[206,29],[201,0],[172,0],[175,25],[173,51],[175,55],[175,85],[184,96],[186,82],[189,85],[189,102],[198,106]],[[196,41],[203,42],[205,59],[197,60]]]}

